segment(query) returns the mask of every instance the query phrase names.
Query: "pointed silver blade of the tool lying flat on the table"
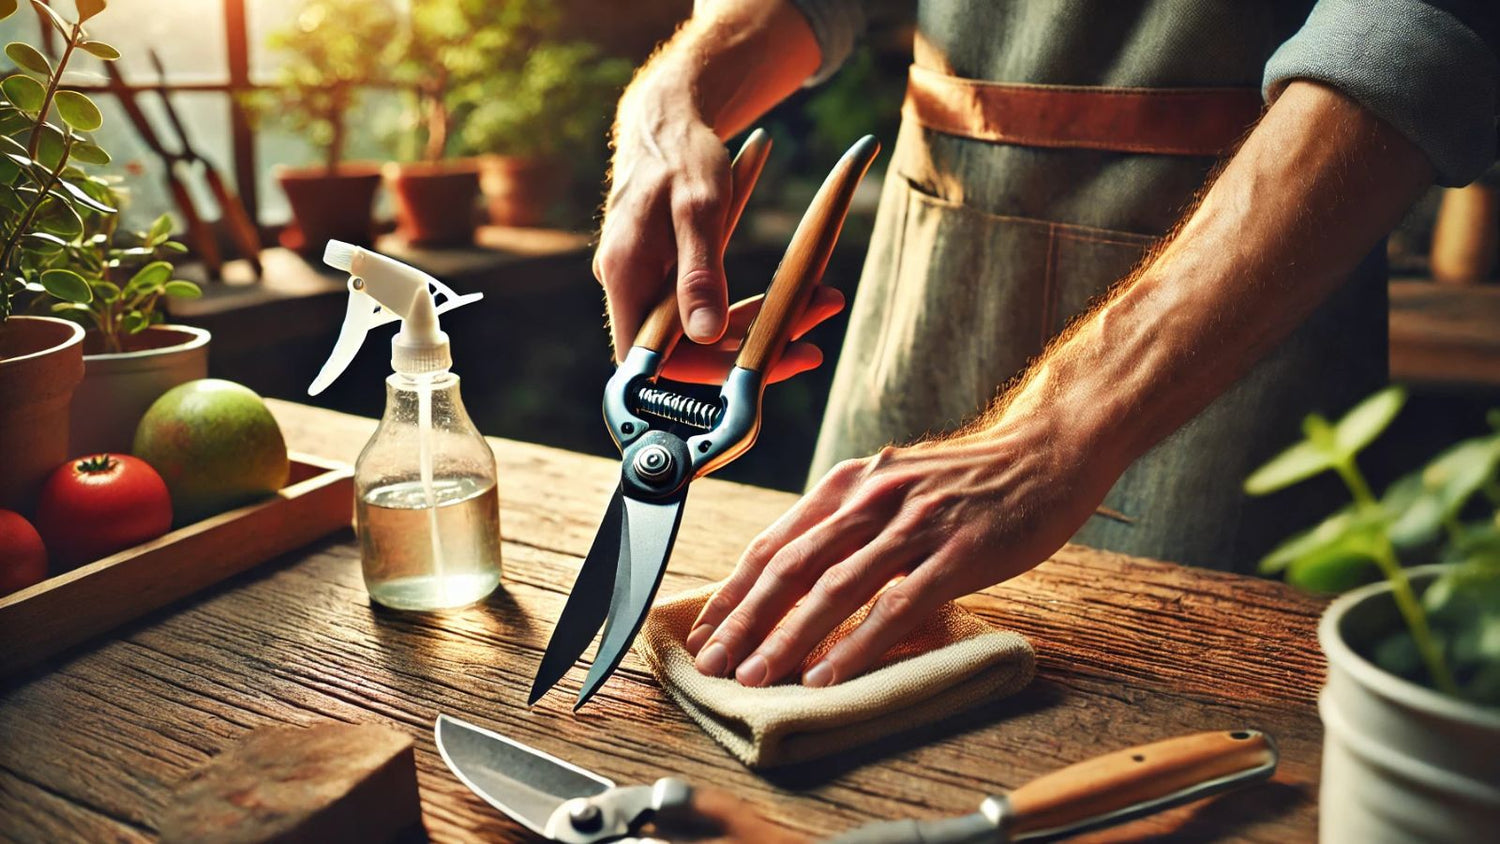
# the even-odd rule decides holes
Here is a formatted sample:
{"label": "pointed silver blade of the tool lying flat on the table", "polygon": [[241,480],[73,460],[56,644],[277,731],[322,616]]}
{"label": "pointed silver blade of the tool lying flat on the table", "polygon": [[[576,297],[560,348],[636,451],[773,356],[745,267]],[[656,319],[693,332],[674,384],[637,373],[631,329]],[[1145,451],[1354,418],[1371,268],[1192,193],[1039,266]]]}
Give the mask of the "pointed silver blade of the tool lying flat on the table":
{"label": "pointed silver blade of the tool lying flat on the table", "polygon": [[438,715],[434,733],[442,762],[471,792],[537,835],[546,835],[552,813],[567,801],[615,787],[592,771],[448,715]]}

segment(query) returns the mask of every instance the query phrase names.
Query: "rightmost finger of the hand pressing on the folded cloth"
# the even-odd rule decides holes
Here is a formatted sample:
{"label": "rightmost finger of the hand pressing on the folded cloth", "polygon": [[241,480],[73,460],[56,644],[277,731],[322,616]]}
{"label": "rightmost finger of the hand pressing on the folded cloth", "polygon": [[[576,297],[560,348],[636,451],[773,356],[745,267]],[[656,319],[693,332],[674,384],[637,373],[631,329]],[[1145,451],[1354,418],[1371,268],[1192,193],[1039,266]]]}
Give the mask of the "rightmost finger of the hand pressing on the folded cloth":
{"label": "rightmost finger of the hand pressing on the folded cloth", "polygon": [[834,645],[816,666],[802,675],[802,685],[825,687],[860,676],[896,643],[906,639],[916,625],[927,621],[938,607],[952,598],[944,588],[942,571],[952,561],[934,555],[916,567],[910,576],[880,592],[870,615],[838,645]]}

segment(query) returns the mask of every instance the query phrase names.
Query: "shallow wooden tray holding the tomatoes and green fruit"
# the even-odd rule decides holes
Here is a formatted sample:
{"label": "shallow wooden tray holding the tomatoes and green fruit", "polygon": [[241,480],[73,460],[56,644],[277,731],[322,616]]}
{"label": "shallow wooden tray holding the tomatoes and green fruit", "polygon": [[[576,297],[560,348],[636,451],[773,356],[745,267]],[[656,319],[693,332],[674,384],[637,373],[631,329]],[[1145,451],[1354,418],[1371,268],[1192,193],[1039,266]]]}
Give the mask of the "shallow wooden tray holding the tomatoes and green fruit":
{"label": "shallow wooden tray holding the tomatoes and green fruit", "polygon": [[286,487],[0,598],[0,678],[346,528],[354,469],[291,454]]}

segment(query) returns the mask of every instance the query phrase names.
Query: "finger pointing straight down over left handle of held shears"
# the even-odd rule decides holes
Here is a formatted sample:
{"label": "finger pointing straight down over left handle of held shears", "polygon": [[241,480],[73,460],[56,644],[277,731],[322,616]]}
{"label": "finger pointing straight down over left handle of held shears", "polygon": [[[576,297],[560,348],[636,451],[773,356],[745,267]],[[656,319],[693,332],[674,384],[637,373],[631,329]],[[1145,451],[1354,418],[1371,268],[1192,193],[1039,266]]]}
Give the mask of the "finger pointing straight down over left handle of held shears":
{"label": "finger pointing straight down over left handle of held shears", "polygon": [[676,232],[676,304],[682,330],[694,343],[724,334],[729,288],[724,283],[724,223],[729,214],[729,168],[714,177],[684,180],[672,196]]}

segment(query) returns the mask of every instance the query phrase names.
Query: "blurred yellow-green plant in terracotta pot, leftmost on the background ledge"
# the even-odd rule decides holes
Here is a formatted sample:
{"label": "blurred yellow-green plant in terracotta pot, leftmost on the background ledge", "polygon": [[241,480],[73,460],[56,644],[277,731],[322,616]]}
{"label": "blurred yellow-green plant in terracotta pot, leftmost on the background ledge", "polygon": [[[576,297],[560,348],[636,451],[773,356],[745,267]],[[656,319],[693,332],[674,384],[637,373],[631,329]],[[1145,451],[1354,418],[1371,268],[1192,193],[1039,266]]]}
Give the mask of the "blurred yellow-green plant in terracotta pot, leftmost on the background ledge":
{"label": "blurred yellow-green plant in terracotta pot, leftmost on the background ledge", "polygon": [[316,252],[328,240],[374,241],[380,166],[344,160],[346,118],[360,85],[388,81],[394,37],[396,13],[382,0],[309,0],[291,27],[272,33],[270,46],[285,55],[278,94],[250,102],[300,132],[322,157],[315,166],[276,169],[292,213],[282,246]]}

